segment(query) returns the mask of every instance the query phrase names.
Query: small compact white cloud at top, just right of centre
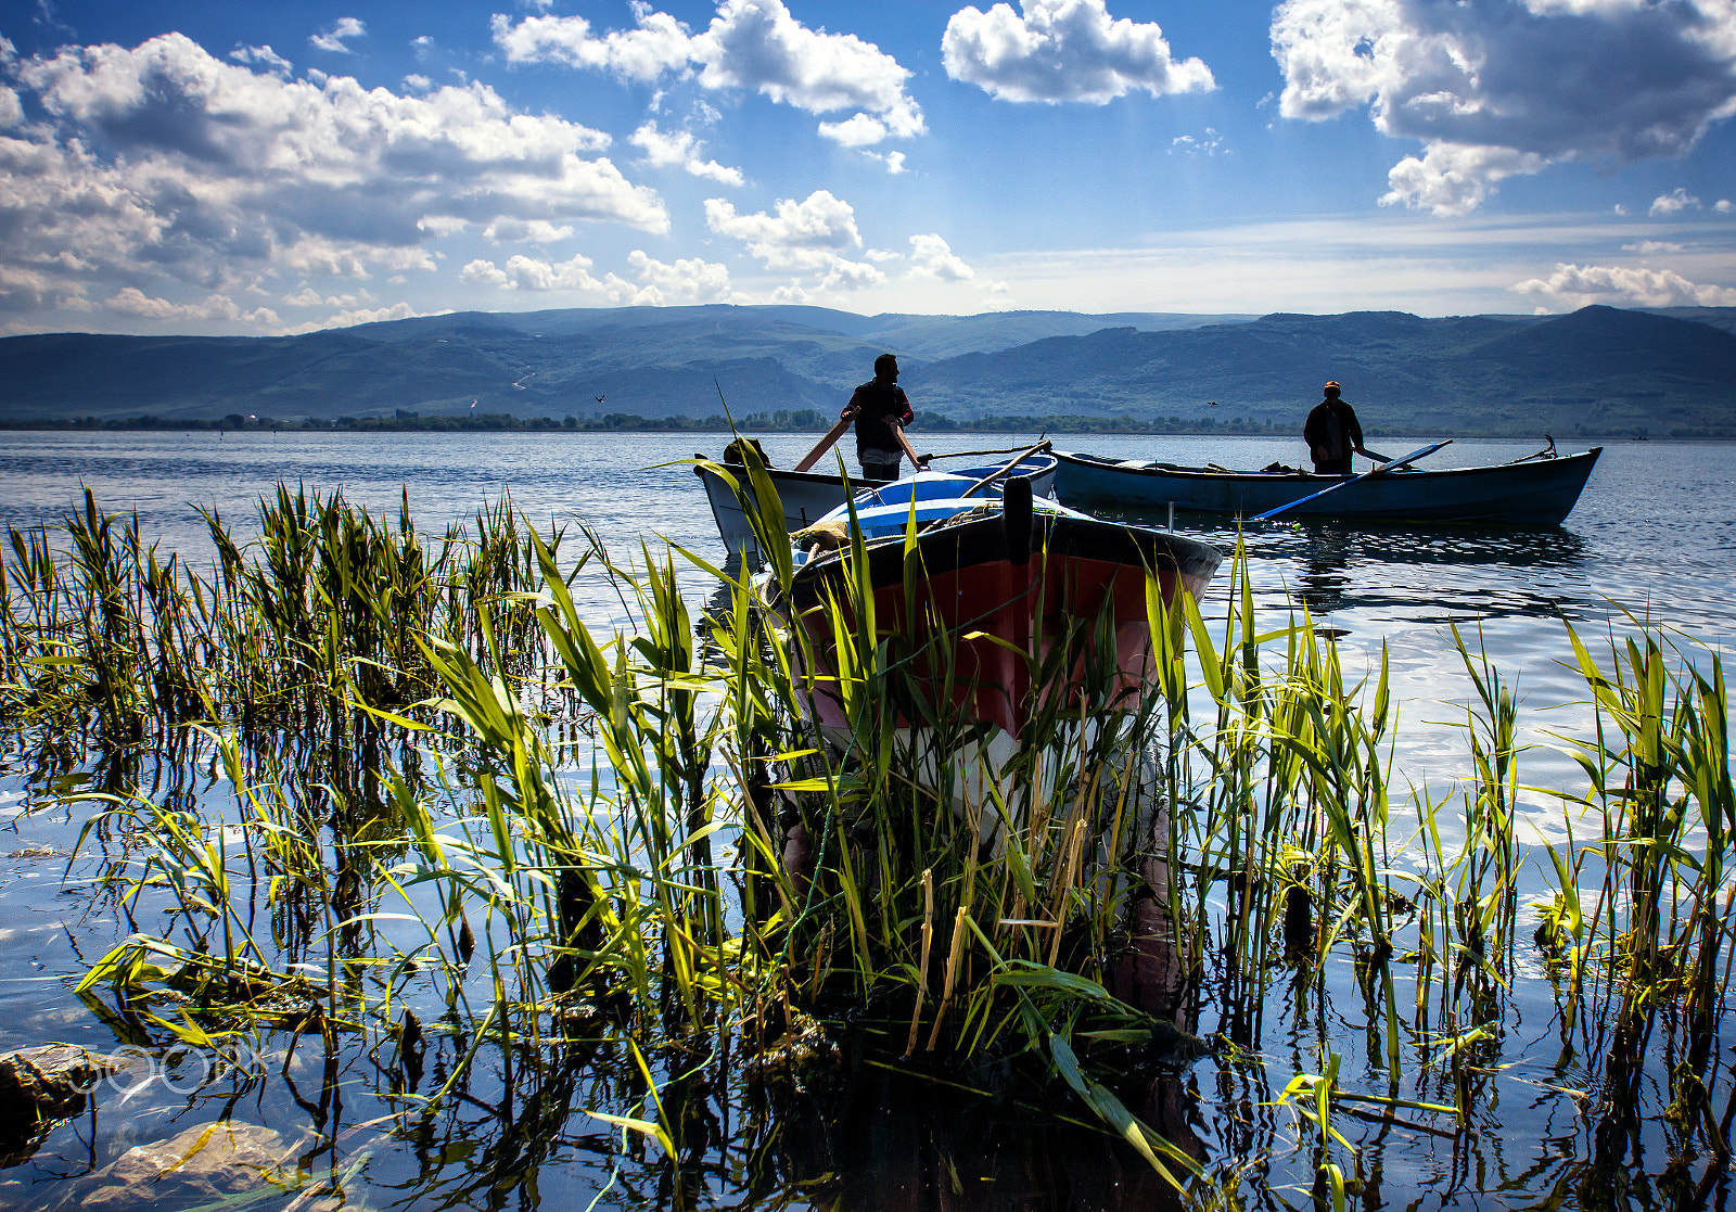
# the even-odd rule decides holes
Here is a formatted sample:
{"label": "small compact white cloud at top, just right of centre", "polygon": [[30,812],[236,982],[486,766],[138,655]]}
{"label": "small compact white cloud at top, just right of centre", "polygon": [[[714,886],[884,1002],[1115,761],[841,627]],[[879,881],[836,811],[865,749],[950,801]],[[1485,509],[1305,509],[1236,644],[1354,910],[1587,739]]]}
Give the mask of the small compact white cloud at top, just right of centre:
{"label": "small compact white cloud at top, just right of centre", "polygon": [[1161,97],[1217,83],[1200,59],[1175,59],[1156,23],[1120,21],[1104,0],[1021,0],[960,9],[946,23],[941,59],[953,80],[998,101],[1108,104],[1128,92]]}

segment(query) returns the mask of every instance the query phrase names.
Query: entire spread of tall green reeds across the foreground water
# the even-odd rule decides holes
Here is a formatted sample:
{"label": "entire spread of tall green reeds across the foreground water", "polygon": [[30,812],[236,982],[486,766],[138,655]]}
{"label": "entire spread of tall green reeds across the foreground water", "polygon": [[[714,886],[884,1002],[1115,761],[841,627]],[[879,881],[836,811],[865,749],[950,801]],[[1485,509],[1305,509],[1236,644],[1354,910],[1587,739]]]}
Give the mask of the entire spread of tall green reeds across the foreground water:
{"label": "entire spread of tall green reeds across the foreground water", "polygon": [[[764,467],[710,469],[786,599]],[[1559,738],[1585,787],[1550,794],[1522,781],[1514,686],[1455,630],[1467,774],[1396,802],[1384,655],[1358,674],[1305,611],[1257,620],[1241,549],[1210,604],[1147,583],[1142,695],[1108,618],[1033,636],[1029,726],[988,766],[951,693],[965,636],[925,603],[913,537],[904,618],[922,625],[875,618],[858,538],[819,608],[840,667],[821,682],[767,585],[585,533],[573,563],[632,608],[599,629],[575,540],[505,502],[439,543],[408,504],[391,526],[290,490],[247,547],[208,521],[205,576],[87,495],[64,545],[12,531],[0,580],[16,728],[182,738],[234,792],[89,794],[85,847],[132,934],[80,991],[116,1030],[285,1031],[328,1056],[361,1040],[411,1090],[439,1016],[467,1051],[424,1108],[484,1049],[509,1099],[569,1097],[559,1057],[592,1049],[637,1075],[604,1118],[670,1158],[693,1148],[694,1075],[731,1080],[745,1052],[762,1084],[823,1087],[852,1038],[856,1063],[936,1080],[1023,1075],[1021,1097],[1085,1108],[1191,1198],[1233,1202],[1241,1163],[1130,1110],[1210,1047],[1226,1082],[1300,1116],[1316,1196],[1342,1205],[1361,1181],[1347,1122],[1458,1137],[1488,1111],[1503,1004],[1538,948],[1562,1045],[1609,1092],[1606,1136],[1632,1134],[1644,1038],[1667,1024],[1689,1042],[1668,1077],[1682,1148],[1727,1156],[1708,1094],[1736,962],[1724,674],[1642,620],[1602,662],[1568,627],[1595,728]],[[705,618],[677,559],[722,585]],[[842,741],[811,724],[818,695],[842,705]],[[1550,802],[1568,840],[1528,847],[1521,821]],[[1552,887],[1531,919],[1528,861]],[[1269,998],[1300,1018],[1337,957],[1382,1089],[1351,1089],[1325,1038],[1318,1071],[1262,1089]]]}

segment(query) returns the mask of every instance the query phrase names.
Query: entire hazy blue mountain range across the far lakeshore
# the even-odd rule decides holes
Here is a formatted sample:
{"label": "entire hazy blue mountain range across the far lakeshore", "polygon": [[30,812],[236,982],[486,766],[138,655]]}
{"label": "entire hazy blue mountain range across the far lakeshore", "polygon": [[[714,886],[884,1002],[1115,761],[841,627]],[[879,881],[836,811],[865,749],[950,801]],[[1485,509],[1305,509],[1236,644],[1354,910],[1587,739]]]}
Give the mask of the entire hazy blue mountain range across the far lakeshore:
{"label": "entire hazy blue mountain range across the far lakeshore", "polygon": [[0,420],[396,412],[835,412],[899,354],[918,415],[1300,424],[1326,379],[1375,432],[1736,436],[1736,307],[1193,316],[825,307],[458,313],[302,337],[0,339]]}

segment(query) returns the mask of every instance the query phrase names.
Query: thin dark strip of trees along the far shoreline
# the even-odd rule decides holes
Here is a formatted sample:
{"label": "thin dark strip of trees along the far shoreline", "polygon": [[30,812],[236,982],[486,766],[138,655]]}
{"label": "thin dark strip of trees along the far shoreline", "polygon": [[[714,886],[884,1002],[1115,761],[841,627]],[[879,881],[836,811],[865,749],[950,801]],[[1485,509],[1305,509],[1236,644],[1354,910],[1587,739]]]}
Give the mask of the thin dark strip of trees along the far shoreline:
{"label": "thin dark strip of trees along the far shoreline", "polygon": [[[832,427],[835,417],[832,413],[819,412],[816,408],[799,408],[793,412],[776,410],[746,413],[734,418],[734,429],[745,434],[776,434],[776,432],[825,432]],[[1299,413],[1293,425],[1290,424],[1272,424],[1264,420],[1248,420],[1245,417],[1227,417],[1224,420],[1215,418],[1182,418],[1182,417],[1153,417],[1149,420],[1141,420],[1135,417],[1085,417],[1078,413],[1045,413],[1045,415],[1016,415],[1016,417],[974,417],[969,420],[957,420],[953,417],[939,417],[918,413],[915,429],[920,432],[1045,432],[1045,434],[1297,434],[1302,427],[1302,417]],[[514,417],[512,413],[474,413],[474,415],[431,415],[424,417],[417,412],[398,410],[392,417],[335,417],[332,420],[323,420],[318,417],[278,420],[276,417],[255,417],[241,413],[229,413],[227,417],[215,418],[184,418],[184,417],[156,417],[144,413],[139,417],[56,417],[56,418],[10,418],[0,420],[0,431],[90,431],[90,429],[161,429],[161,431],[243,431],[259,432],[271,431],[281,432],[285,429],[293,432],[729,432],[731,418],[722,413],[712,413],[708,417],[641,417],[637,413],[592,413],[590,417],[568,415],[562,418],[554,417]],[[1410,436],[1489,436],[1489,438],[1519,438],[1528,434],[1481,434],[1474,431],[1453,431],[1453,429],[1413,429],[1404,425],[1382,425],[1380,434],[1391,438],[1410,438]],[[1590,439],[1590,438],[1649,438],[1651,434],[1644,429],[1621,429],[1611,434],[1597,434],[1585,427],[1575,425],[1571,434],[1562,434],[1573,439]],[[1680,429],[1672,427],[1667,434],[1658,434],[1660,438],[1731,438],[1733,434],[1720,429]]]}

